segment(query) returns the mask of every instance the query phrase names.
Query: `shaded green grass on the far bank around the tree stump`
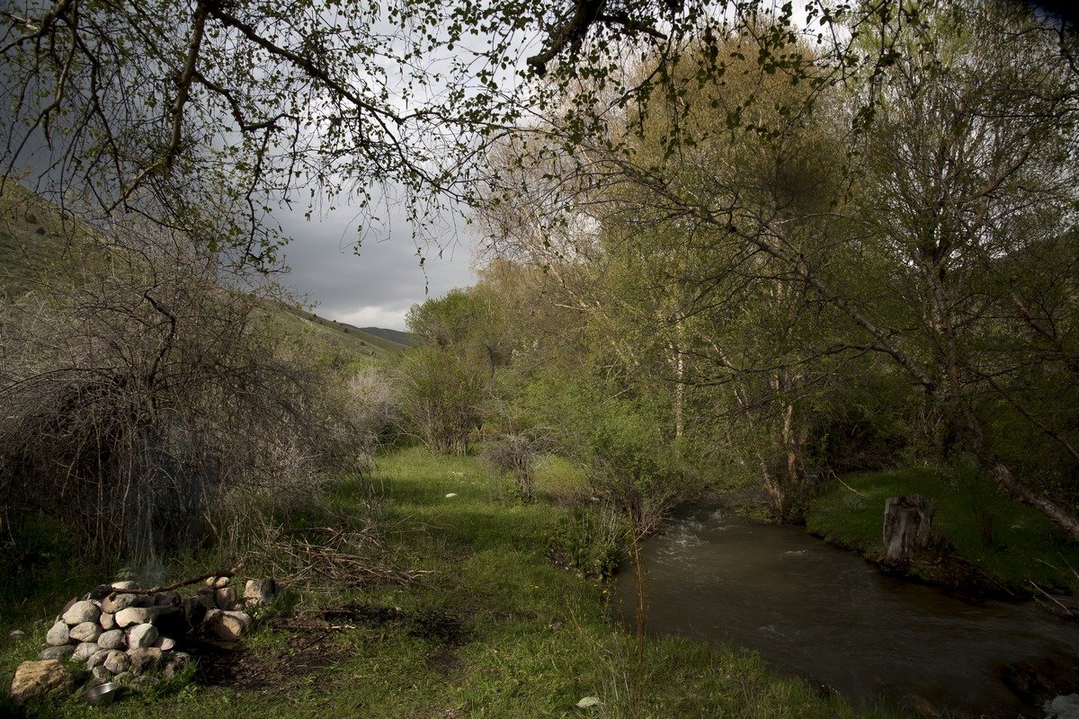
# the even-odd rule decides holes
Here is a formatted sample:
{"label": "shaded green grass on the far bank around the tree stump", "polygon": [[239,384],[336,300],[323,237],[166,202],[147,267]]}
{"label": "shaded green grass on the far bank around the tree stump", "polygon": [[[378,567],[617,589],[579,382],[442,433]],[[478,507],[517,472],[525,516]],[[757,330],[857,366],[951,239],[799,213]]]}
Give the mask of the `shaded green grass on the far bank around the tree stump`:
{"label": "shaded green grass on the far bank around the tree stump", "polygon": [[1079,543],[985,481],[921,467],[852,474],[843,481],[850,488],[829,482],[806,517],[809,530],[831,542],[878,555],[885,500],[919,494],[935,502],[934,533],[991,578],[1024,593],[1034,591],[1030,581],[1051,591],[1079,591],[1079,578],[1069,569],[1079,568]]}

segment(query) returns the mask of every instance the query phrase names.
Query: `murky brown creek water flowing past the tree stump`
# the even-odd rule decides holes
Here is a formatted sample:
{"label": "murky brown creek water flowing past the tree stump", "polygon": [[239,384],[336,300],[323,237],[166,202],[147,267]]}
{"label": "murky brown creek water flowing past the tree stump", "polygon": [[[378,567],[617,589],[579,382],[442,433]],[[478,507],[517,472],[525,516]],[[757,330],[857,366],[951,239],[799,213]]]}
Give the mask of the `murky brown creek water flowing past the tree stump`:
{"label": "murky brown creek water flowing past the tree stump", "polygon": [[[1079,623],[887,577],[800,527],[697,507],[642,555],[650,633],[756,650],[856,703],[1040,719],[1047,697],[1079,692]],[[617,584],[632,622],[633,572]]]}

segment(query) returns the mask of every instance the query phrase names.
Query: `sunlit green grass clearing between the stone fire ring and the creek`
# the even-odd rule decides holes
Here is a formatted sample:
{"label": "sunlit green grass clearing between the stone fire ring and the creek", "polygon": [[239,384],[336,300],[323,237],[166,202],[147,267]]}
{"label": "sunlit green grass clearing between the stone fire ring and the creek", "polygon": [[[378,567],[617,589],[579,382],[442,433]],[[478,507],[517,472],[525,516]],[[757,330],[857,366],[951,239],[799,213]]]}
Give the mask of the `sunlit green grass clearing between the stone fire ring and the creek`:
{"label": "sunlit green grass clearing between the stone fire ring and the creek", "polygon": [[[564,468],[563,468],[564,469]],[[556,472],[557,474],[558,472]],[[564,480],[563,480],[564,481]],[[333,487],[339,512],[373,511],[401,557],[427,573],[405,586],[293,594],[284,606],[381,607],[387,621],[319,638],[263,622],[246,639],[247,660],[264,686],[210,688],[178,680],[108,709],[117,719],[147,716],[550,718],[550,717],[861,717],[844,702],[776,677],[750,652],[678,638],[636,645],[611,621],[602,584],[560,570],[548,540],[569,509],[507,502],[474,458],[436,458],[410,450],[382,459],[373,482]],[[381,496],[370,510],[372,485]],[[447,497],[449,494],[455,497]],[[85,587],[79,578],[67,587]],[[52,595],[51,595],[52,597]],[[6,642],[0,672],[33,658],[56,611],[52,605],[0,622],[31,636]],[[313,647],[305,647],[316,642]],[[598,696],[598,709],[576,708]],[[0,714],[12,707],[0,700]],[[69,697],[37,703],[27,717],[96,717]]]}

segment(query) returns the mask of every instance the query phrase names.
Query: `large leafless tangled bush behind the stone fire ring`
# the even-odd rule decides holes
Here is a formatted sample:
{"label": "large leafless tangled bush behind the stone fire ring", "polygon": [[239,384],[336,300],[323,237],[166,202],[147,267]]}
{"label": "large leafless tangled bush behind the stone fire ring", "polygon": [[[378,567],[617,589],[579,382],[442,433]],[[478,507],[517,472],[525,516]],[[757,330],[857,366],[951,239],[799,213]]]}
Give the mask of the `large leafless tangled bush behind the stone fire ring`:
{"label": "large leafless tangled bush behind the stone fire ring", "polygon": [[[331,446],[302,343],[211,252],[160,229],[72,244],[64,280],[2,308],[0,518],[44,511],[85,553],[148,559],[222,498],[300,486]],[[284,478],[284,482],[283,482]]]}

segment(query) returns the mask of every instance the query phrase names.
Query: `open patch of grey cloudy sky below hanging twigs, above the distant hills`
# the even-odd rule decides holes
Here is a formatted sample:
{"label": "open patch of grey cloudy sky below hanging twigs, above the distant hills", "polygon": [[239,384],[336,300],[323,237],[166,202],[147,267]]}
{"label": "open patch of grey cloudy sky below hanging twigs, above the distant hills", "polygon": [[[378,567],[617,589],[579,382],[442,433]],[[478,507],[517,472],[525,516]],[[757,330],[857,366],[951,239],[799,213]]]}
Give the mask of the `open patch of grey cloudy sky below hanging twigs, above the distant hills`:
{"label": "open patch of grey cloudy sky below hanging twigs, above the distant hills", "polygon": [[414,303],[476,281],[470,268],[474,235],[462,218],[456,218],[456,230],[448,226],[437,233],[445,246],[442,257],[437,247],[428,247],[421,267],[411,227],[404,220],[372,227],[356,257],[355,210],[339,209],[323,217],[313,212],[309,221],[305,209],[283,208],[277,213],[285,233],[293,237],[285,248],[291,272],[284,280],[316,303],[320,317],[404,330],[405,313]]}

